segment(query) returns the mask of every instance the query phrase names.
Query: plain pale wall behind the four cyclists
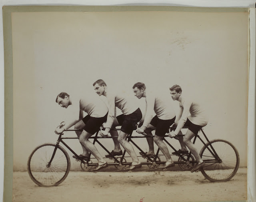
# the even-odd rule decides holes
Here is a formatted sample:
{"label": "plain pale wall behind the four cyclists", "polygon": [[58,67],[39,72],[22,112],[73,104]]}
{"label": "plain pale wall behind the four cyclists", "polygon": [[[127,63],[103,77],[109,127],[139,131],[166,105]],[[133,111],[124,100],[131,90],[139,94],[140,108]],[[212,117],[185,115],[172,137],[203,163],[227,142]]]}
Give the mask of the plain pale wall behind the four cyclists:
{"label": "plain pale wall behind the four cyclists", "polygon": [[[12,37],[14,171],[26,170],[38,144],[56,142],[54,129],[68,113],[57,94],[93,92],[99,78],[130,96],[138,81],[164,96],[180,84],[206,107],[208,138],[232,142],[246,166],[248,13],[13,13]],[[81,151],[77,140],[70,143]]]}

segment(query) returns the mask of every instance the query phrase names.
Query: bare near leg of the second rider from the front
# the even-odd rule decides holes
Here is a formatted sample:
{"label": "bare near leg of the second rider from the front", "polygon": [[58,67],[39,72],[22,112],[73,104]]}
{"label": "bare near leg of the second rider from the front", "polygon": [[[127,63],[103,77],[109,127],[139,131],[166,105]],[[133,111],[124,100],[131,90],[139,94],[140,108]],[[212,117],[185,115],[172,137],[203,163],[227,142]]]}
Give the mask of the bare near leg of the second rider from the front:
{"label": "bare near leg of the second rider from the front", "polygon": [[120,142],[120,144],[122,145],[122,147],[128,152],[128,154],[132,157],[132,165],[138,165],[140,164],[139,159],[136,155],[136,153],[134,152],[134,149],[132,147],[132,145],[130,144],[130,142],[128,142],[126,140],[126,138],[128,137],[129,134],[124,133],[122,131],[120,131],[119,136],[118,136],[118,142]]}

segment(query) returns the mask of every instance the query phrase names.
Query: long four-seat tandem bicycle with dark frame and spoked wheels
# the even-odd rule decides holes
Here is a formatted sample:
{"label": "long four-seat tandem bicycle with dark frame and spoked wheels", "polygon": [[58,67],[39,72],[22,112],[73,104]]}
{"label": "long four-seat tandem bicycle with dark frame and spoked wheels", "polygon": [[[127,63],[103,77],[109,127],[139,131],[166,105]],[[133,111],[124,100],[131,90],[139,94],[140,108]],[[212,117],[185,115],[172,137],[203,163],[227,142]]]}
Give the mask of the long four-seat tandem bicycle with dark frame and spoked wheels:
{"label": "long four-seat tandem bicycle with dark frame and spoked wheels", "polygon": [[[173,128],[171,128],[173,129]],[[120,129],[114,129],[114,130],[120,130]],[[154,130],[154,128],[152,128]],[[73,129],[68,131],[82,131],[79,129]],[[200,156],[202,160],[204,161],[204,166],[202,166],[199,170],[202,172],[202,175],[210,180],[211,182],[225,182],[227,180],[230,180],[237,172],[239,167],[239,154],[234,145],[232,145],[230,142],[226,140],[221,139],[215,139],[215,140],[208,140],[206,134],[201,129],[201,132],[204,136],[205,140],[202,140],[202,137],[199,135],[194,136],[194,139],[192,140],[193,144],[196,142],[197,139],[199,139],[203,146],[200,151]],[[102,144],[101,140],[106,138],[118,138],[118,137],[101,137],[98,136],[98,132],[96,132],[95,136],[91,136],[90,139],[93,139],[92,144],[96,144],[96,142],[108,153],[110,154],[110,151]],[[32,153],[30,154],[28,158],[28,174],[30,178],[39,186],[57,186],[63,180],[67,177],[69,171],[70,171],[70,158],[68,156],[68,153],[66,150],[60,146],[60,142],[66,146],[70,152],[72,152],[76,157],[77,160],[81,163],[80,167],[82,170],[87,170],[89,166],[96,166],[96,163],[92,162],[92,159],[96,158],[86,158],[86,160],[83,160],[82,157],[79,157],[70,146],[65,142],[67,139],[78,139],[78,137],[63,137],[62,134],[59,134],[58,140],[56,144],[52,143],[44,143],[39,146],[37,146]],[[160,156],[163,156],[164,154],[159,154],[160,149],[157,149],[156,155],[149,157],[146,156],[146,153],[136,144],[136,141],[134,141],[133,138],[146,138],[151,136],[138,136],[131,134],[128,135],[127,141],[130,142],[133,146],[135,146],[141,153],[141,156],[146,160],[146,162],[142,161],[141,163],[144,165],[148,165],[149,168],[159,168],[158,164],[164,164],[164,161],[161,161]],[[184,136],[184,135],[179,135]],[[153,138],[154,136],[152,136]],[[164,136],[163,141],[165,144],[172,148],[175,152],[177,150],[170,144],[170,139],[167,139],[167,135]],[[216,147],[216,148],[214,148]],[[52,152],[53,150],[53,152]],[[218,154],[217,154],[218,153]],[[89,155],[91,155],[89,153]],[[114,165],[118,170],[125,168],[128,164],[131,164],[132,162],[126,161],[126,151],[124,150],[122,156],[118,157],[111,157],[110,159],[114,160],[114,162],[108,162],[109,166]],[[220,155],[220,156],[218,156]],[[56,156],[57,158],[55,158]],[[178,164],[179,167],[182,170],[191,170],[195,169],[194,164],[196,163],[196,160],[194,159],[194,156],[192,152],[189,152],[187,154],[175,154],[175,156],[178,156],[178,161],[174,161],[174,164]],[[39,157],[39,158],[38,158]],[[44,158],[42,158],[44,157]],[[220,159],[223,158],[223,159]],[[130,156],[129,156],[130,158]],[[39,167],[38,167],[39,166]],[[209,166],[209,167],[208,167]],[[206,168],[207,167],[207,168]],[[166,170],[166,169],[164,169]],[[222,171],[223,170],[223,171]],[[194,170],[191,170],[193,172]]]}

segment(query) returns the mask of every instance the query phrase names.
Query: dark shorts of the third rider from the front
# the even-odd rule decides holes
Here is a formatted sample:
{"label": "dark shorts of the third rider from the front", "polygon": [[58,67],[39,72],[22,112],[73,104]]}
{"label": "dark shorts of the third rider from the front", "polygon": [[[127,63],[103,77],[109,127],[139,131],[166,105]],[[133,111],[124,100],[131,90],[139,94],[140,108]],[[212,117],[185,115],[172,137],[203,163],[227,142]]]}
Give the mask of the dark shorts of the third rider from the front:
{"label": "dark shorts of the third rider from the front", "polygon": [[174,123],[174,121],[175,121],[175,116],[174,118],[168,119],[168,120],[162,120],[157,116],[154,116],[150,124],[156,127],[155,135],[163,137],[167,132],[169,132],[168,130],[170,126]]}

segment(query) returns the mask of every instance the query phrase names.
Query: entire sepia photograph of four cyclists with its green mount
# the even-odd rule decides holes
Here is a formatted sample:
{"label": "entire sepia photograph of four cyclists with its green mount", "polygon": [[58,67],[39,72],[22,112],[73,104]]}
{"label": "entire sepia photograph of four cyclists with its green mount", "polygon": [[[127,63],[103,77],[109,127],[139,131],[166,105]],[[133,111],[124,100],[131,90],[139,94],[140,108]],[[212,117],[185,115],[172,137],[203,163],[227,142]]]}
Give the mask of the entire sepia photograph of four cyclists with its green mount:
{"label": "entire sepia photograph of four cyclists with its green mount", "polygon": [[12,202],[248,200],[248,8],[3,14]]}

